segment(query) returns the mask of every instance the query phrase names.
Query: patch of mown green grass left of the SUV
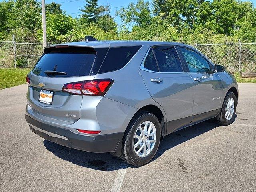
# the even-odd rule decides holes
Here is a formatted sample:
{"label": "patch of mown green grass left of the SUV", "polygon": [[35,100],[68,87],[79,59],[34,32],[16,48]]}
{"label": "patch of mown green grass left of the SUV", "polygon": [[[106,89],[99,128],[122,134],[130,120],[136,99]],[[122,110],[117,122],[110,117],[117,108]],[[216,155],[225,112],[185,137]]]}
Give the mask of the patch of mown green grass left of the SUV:
{"label": "patch of mown green grass left of the SUV", "polygon": [[0,89],[25,84],[28,72],[30,69],[0,69]]}

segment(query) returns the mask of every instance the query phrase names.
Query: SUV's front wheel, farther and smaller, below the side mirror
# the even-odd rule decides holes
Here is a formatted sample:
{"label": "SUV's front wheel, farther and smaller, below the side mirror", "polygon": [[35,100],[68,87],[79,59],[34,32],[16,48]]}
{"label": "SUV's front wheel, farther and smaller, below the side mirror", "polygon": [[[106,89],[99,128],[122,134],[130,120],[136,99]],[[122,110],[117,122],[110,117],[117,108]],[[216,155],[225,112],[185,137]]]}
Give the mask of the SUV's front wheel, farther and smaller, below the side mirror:
{"label": "SUV's front wheel, farther and smaller, below the side mirror", "polygon": [[237,102],[235,94],[229,91],[223,102],[218,124],[230,125],[235,121],[236,104]]}

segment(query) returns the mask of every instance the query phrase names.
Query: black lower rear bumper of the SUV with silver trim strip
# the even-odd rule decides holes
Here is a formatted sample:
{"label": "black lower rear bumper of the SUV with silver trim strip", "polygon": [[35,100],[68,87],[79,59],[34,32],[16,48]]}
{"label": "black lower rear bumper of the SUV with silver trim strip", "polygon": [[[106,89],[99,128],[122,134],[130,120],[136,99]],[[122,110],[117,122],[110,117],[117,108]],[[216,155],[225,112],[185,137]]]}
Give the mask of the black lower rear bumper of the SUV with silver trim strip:
{"label": "black lower rear bumper of the SUV with silver trim strip", "polygon": [[28,115],[25,115],[25,118],[30,129],[46,140],[82,151],[111,152],[115,156],[120,156],[124,132],[88,136],[39,122]]}

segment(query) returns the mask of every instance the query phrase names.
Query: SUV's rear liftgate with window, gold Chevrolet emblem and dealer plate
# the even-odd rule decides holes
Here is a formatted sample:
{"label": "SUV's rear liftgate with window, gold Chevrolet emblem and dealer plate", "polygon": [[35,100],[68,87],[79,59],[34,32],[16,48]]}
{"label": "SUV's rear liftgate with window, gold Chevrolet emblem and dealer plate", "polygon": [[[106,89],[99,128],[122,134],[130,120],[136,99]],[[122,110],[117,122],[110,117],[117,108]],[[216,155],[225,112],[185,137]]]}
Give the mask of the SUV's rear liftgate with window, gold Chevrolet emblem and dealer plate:
{"label": "SUV's rear liftgate with window, gold Chevrolet emblem and dealer plate", "polygon": [[[108,48],[101,49],[97,50],[100,55],[106,55]],[[44,120],[76,122],[83,96],[63,92],[62,88],[67,83],[94,79],[95,68],[104,58],[97,51],[92,47],[63,45],[46,48],[28,74],[28,108]]]}

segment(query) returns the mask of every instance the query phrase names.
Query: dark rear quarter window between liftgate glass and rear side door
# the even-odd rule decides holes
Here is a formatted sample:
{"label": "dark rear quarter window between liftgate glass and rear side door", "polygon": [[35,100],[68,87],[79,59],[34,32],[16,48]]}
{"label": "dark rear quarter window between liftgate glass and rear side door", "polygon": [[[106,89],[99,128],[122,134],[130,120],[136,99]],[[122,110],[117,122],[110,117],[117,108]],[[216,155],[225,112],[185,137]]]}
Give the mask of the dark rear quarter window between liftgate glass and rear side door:
{"label": "dark rear quarter window between liftgate glass and rear side door", "polygon": [[127,46],[110,48],[100,67],[99,73],[106,73],[123,68],[140,47],[141,46]]}

